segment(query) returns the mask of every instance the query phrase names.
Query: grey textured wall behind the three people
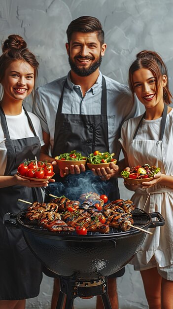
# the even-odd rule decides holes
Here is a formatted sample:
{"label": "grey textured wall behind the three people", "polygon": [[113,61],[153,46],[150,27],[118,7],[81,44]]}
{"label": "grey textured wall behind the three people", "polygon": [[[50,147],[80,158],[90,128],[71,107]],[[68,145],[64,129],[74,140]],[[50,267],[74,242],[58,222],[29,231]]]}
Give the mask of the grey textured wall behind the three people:
{"label": "grey textured wall behind the three people", "polygon": [[[81,15],[98,17],[103,24],[107,43],[103,74],[126,83],[135,55],[152,49],[167,64],[173,93],[173,0],[0,0],[0,41],[14,33],[26,39],[40,63],[37,85],[41,85],[69,71],[66,29]],[[31,99],[26,104],[31,109]],[[122,198],[130,198],[121,181],[120,190]],[[117,281],[121,309],[148,308],[137,271],[127,266]],[[27,308],[49,309],[52,284],[44,277],[39,296],[27,301]],[[95,298],[75,301],[76,309],[94,307]]]}

